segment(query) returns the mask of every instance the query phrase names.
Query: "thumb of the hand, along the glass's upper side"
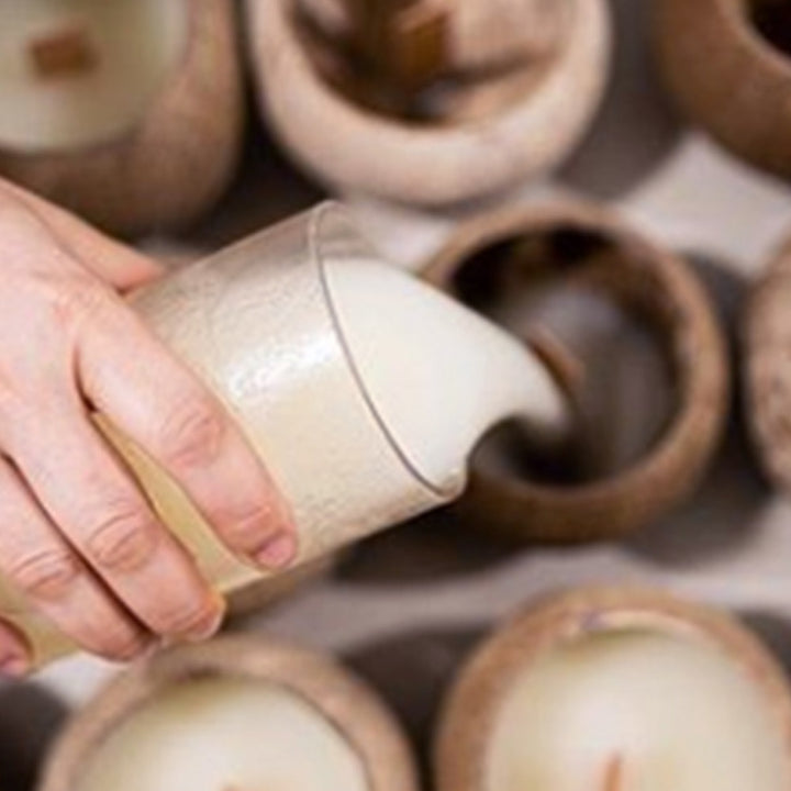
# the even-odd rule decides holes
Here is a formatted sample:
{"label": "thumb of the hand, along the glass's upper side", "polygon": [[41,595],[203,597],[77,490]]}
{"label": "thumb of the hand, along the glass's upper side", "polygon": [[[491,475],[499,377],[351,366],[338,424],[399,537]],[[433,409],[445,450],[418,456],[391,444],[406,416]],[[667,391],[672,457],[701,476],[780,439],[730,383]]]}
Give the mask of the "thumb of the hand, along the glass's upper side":
{"label": "thumb of the hand, along the glass's upper side", "polygon": [[0,185],[46,225],[80,264],[115,289],[129,291],[161,275],[161,267],[152,258],[105,236],[65,209],[11,182]]}

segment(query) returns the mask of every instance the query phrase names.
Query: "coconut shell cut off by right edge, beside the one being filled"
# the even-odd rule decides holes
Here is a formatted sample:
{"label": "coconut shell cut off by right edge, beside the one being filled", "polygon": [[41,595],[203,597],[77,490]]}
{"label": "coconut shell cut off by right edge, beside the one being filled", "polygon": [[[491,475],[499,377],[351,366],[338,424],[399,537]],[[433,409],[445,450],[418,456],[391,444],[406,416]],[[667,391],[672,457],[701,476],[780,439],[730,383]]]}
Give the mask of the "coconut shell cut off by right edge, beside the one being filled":
{"label": "coconut shell cut off by right edge, beside the one being filled", "polygon": [[745,319],[747,414],[771,479],[791,492],[791,242],[755,286]]}

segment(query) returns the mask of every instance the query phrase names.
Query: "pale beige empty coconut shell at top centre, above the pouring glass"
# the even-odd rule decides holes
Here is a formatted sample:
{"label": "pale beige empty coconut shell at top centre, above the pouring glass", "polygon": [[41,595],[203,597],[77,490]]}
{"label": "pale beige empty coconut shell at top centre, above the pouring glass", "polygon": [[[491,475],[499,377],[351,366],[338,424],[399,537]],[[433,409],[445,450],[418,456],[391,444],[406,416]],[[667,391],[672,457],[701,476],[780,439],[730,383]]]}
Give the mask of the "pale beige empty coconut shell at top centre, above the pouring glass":
{"label": "pale beige empty coconut shell at top centre, above the pouring glass", "polygon": [[[296,0],[247,0],[259,103],[293,157],[337,190],[426,205],[504,190],[558,164],[603,92],[606,4],[564,4],[557,46],[521,67],[527,76],[515,94],[508,81],[492,99],[491,80],[503,77],[497,74],[439,80],[415,100],[402,85],[349,65],[332,36],[303,23]],[[488,96],[474,113],[478,90]]]}

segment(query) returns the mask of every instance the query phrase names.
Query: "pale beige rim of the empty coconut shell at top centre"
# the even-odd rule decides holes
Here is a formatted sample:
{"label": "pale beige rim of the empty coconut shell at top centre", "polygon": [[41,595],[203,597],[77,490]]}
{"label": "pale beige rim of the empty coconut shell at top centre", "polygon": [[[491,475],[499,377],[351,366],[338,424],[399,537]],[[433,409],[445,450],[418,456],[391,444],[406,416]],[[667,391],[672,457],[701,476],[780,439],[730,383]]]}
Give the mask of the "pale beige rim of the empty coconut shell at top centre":
{"label": "pale beige rim of the empty coconut shell at top centre", "polygon": [[[592,116],[599,108],[606,79],[610,73],[611,60],[611,18],[609,10],[601,0],[595,2],[595,10],[588,11],[591,16],[599,15],[598,27],[595,30],[595,45],[586,41],[584,51],[593,53],[588,59],[591,64],[586,69],[586,78],[591,80],[591,86],[587,86],[584,90],[580,88],[578,92],[584,96],[584,101],[579,99],[577,102],[569,102],[566,115],[570,120],[565,121],[556,129],[553,142],[547,143],[545,140],[542,145],[535,145],[531,148],[530,156],[523,151],[519,157],[510,156],[510,159],[519,158],[517,161],[508,161],[505,168],[504,159],[495,149],[505,145],[501,141],[501,146],[487,146],[486,143],[477,145],[478,157],[483,157],[482,153],[488,152],[484,157],[489,165],[499,164],[499,169],[506,171],[492,175],[492,168],[486,169],[479,167],[475,175],[470,175],[468,170],[464,174],[450,171],[445,160],[436,159],[437,151],[448,148],[448,142],[456,147],[467,148],[470,146],[469,140],[475,135],[470,132],[477,132],[482,137],[489,138],[497,134],[497,131],[508,131],[510,126],[519,125],[524,136],[524,129],[527,126],[526,118],[531,119],[533,127],[537,129],[535,116],[543,118],[546,115],[545,108],[542,113],[535,111],[537,103],[534,92],[530,102],[516,102],[510,111],[504,115],[497,115],[484,121],[477,121],[470,124],[457,124],[446,126],[416,127],[405,125],[390,119],[388,116],[377,114],[374,111],[366,110],[359,105],[344,99],[337,91],[326,85],[325,80],[315,73],[315,68],[310,63],[310,57],[304,53],[299,43],[296,42],[297,36],[292,35],[286,38],[287,45],[280,46],[278,51],[277,63],[267,56],[267,32],[268,19],[267,13],[261,9],[271,9],[270,13],[280,14],[277,22],[280,27],[288,30],[290,22],[282,11],[283,4],[267,4],[268,0],[247,0],[247,11],[252,19],[248,31],[248,42],[250,57],[253,62],[254,74],[256,78],[256,93],[258,107],[264,114],[265,120],[269,123],[275,137],[280,141],[283,148],[296,159],[301,167],[307,169],[319,181],[333,185],[336,188],[348,190],[360,190],[367,193],[386,197],[396,201],[414,203],[417,205],[452,205],[463,203],[467,200],[482,194],[491,194],[497,191],[508,189],[523,178],[535,175],[554,167],[577,145],[582,134],[591,123]],[[578,9],[589,9],[584,3],[589,0],[578,0]],[[579,23],[573,30],[586,27]],[[577,33],[579,36],[579,33]],[[586,30],[586,36],[591,37]],[[573,43],[575,36],[570,36]],[[573,52],[577,55],[579,47],[569,44],[567,52]],[[571,62],[571,58],[567,58]],[[357,143],[357,151],[370,149],[361,159],[361,163],[349,167],[349,163],[345,163],[345,167],[339,167],[334,161],[335,156],[332,153],[333,145],[326,142],[316,142],[314,135],[305,132],[308,123],[297,123],[298,116],[304,114],[302,111],[294,110],[297,102],[289,102],[288,109],[282,97],[275,96],[271,90],[271,83],[282,83],[281,74],[282,63],[288,64],[291,69],[289,74],[290,91],[299,93],[303,99],[304,105],[310,105],[311,118],[314,122],[321,122],[326,127],[334,125],[343,129],[344,140],[347,142],[354,138]],[[561,65],[566,66],[565,60],[560,59]],[[576,62],[569,65],[578,68]],[[568,69],[567,69],[568,70]],[[294,87],[293,74],[298,75],[300,85]],[[595,78],[592,78],[595,75]],[[279,77],[279,80],[276,80]],[[569,74],[556,68],[549,70],[548,76],[543,80],[543,93],[550,94],[552,90],[556,90],[555,81],[564,78],[566,81],[570,79]],[[544,100],[542,93],[542,100]],[[541,104],[538,104],[541,107]],[[556,126],[558,126],[556,121]],[[533,130],[535,131],[535,130]],[[511,133],[510,133],[511,134]],[[535,135],[534,135],[535,136]],[[371,146],[374,141],[378,145]],[[366,145],[366,142],[368,144]],[[506,146],[508,147],[508,146]],[[512,145],[511,148],[514,146]],[[394,175],[392,168],[382,166],[381,161],[387,161],[389,151],[400,152],[398,155],[400,167],[399,171],[414,171],[423,174],[421,163],[434,164],[435,178],[431,185],[425,179],[417,178],[414,181],[404,181],[402,174]],[[428,155],[431,149],[431,156]],[[482,152],[482,153],[481,153]],[[513,154],[513,152],[511,152]],[[455,156],[455,154],[454,154]],[[394,160],[394,156],[389,157]],[[465,160],[469,164],[469,158]],[[422,185],[422,187],[419,185]]]}

